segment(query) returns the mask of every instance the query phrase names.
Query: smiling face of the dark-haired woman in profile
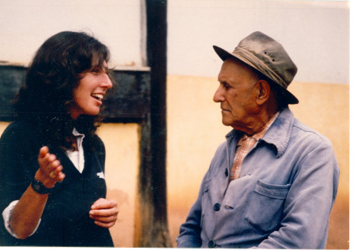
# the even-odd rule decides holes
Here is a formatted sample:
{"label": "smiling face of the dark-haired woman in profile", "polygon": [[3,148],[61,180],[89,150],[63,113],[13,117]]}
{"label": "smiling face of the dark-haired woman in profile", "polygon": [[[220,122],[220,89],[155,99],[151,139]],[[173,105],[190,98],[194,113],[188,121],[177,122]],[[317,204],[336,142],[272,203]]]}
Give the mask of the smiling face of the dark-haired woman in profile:
{"label": "smiling face of the dark-haired woman in profile", "polygon": [[113,87],[106,73],[106,62],[102,68],[93,68],[84,73],[79,86],[73,91],[74,104],[69,108],[71,118],[79,115],[98,115],[106,90]]}

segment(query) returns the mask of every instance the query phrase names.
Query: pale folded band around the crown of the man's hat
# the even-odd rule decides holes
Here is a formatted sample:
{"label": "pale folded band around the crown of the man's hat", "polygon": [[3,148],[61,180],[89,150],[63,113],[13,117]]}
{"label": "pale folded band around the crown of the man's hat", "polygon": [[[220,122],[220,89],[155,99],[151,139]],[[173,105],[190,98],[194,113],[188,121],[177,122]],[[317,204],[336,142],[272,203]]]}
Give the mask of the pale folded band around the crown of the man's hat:
{"label": "pale folded band around the crown of the man's hat", "polygon": [[266,66],[266,64],[263,61],[261,61],[259,58],[254,56],[251,52],[246,51],[241,47],[236,47],[233,53],[231,54],[233,56],[236,56],[238,59],[248,64],[249,66],[255,68],[257,71],[268,76],[268,78],[271,78],[271,80],[278,83],[278,85],[281,85],[283,88],[288,88],[288,84],[286,84],[286,82],[283,79],[281,79],[279,75],[277,75],[274,71],[272,71],[271,68]]}

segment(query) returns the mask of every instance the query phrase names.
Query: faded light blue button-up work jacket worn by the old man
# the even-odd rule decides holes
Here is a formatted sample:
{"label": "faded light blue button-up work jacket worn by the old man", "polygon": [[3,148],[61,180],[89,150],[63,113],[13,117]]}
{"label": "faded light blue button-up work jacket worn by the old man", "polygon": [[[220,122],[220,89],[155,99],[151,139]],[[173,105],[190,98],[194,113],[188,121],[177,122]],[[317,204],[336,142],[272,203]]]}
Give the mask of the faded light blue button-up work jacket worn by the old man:
{"label": "faded light blue button-up work jacket worn by the old man", "polygon": [[218,147],[177,246],[323,249],[339,177],[331,142],[286,108],[228,184],[241,135]]}

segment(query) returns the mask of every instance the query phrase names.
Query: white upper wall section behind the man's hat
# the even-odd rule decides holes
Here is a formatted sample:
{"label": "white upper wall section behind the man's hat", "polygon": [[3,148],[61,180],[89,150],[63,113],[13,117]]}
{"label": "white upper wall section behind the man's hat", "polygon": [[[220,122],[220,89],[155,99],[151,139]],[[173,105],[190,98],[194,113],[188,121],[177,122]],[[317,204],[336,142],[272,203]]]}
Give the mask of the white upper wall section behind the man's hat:
{"label": "white upper wall section behind the man's hat", "polygon": [[169,73],[216,76],[212,46],[262,31],[298,66],[295,80],[349,83],[349,1],[169,0]]}

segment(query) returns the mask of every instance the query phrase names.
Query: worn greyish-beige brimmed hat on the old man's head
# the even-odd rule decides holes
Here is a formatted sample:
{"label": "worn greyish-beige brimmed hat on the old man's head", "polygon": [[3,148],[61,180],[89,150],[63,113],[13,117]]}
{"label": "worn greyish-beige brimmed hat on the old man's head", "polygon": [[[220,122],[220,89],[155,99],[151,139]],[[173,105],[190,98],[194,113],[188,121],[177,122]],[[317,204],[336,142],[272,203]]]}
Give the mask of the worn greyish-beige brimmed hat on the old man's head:
{"label": "worn greyish-beige brimmed hat on the old man's head", "polygon": [[273,38],[256,31],[240,41],[232,53],[218,46],[213,48],[223,61],[231,57],[238,58],[273,80],[280,87],[279,95],[288,104],[298,103],[298,99],[287,89],[298,68],[283,46]]}

